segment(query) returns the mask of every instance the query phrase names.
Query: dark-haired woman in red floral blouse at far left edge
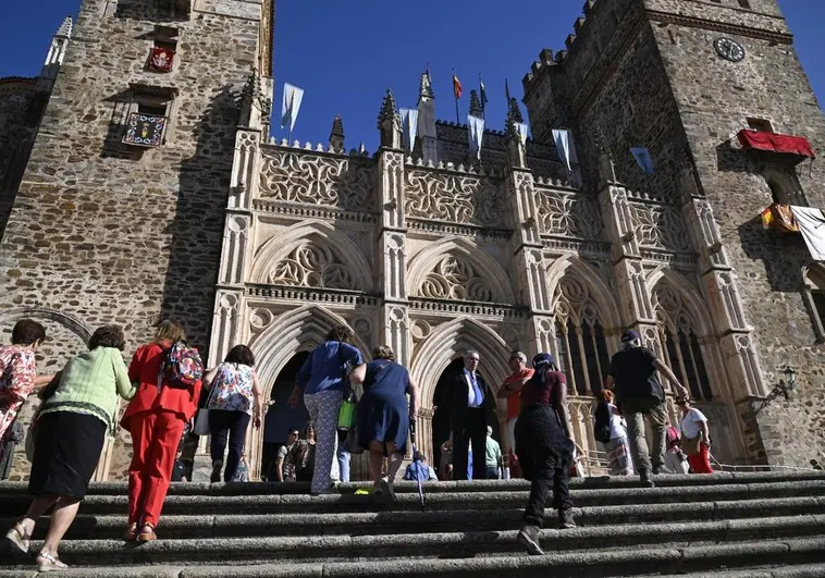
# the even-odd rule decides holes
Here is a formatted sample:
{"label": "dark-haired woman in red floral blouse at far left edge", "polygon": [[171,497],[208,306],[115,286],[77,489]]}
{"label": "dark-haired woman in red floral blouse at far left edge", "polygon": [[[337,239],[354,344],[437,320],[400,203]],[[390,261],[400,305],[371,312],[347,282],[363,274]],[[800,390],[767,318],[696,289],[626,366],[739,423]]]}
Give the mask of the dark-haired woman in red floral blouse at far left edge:
{"label": "dark-haired woman in red floral blouse at far left edge", "polygon": [[[12,330],[12,344],[0,346],[0,453],[7,446],[17,411],[36,388],[51,381],[51,376],[37,379],[35,349],[46,339],[46,330],[37,321],[21,319]],[[0,455],[0,460],[3,456]]]}

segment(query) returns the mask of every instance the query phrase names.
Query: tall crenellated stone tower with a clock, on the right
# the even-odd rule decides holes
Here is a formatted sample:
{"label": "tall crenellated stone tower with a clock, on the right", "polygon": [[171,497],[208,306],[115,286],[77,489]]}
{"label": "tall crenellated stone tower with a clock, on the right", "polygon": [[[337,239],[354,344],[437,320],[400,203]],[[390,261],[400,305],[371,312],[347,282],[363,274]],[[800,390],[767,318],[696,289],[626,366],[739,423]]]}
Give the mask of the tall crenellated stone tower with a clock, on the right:
{"label": "tall crenellated stone tower with a clock, on the right", "polygon": [[[723,360],[714,394],[728,407],[715,417],[739,428],[742,457],[817,457],[811,447],[825,414],[810,408],[823,405],[825,276],[799,235],[764,231],[759,216],[773,201],[825,206],[823,169],[800,156],[754,155],[737,138],[758,130],[825,145],[776,0],[589,0],[566,50],[542,51],[524,84],[537,139],[575,127],[587,186],[601,190],[615,223],[617,281],[633,296],[624,321],[672,362],[681,359],[665,321],[668,308],[679,313],[652,291],[653,271],[668,261],[710,313],[691,322],[713,328],[701,347]],[[653,175],[636,164],[635,146],[650,149]],[[641,224],[628,226],[630,217]],[[796,401],[754,411],[787,365],[799,371]]]}

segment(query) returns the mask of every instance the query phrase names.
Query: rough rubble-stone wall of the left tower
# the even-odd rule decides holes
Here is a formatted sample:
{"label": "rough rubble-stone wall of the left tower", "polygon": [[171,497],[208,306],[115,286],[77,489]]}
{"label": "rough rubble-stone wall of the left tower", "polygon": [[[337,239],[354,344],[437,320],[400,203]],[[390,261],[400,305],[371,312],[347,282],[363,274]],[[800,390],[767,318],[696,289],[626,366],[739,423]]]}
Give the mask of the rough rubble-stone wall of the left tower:
{"label": "rough rubble-stone wall of the left tower", "polygon": [[[39,307],[93,329],[119,323],[127,359],[155,322],[174,318],[206,352],[237,98],[260,60],[261,7],[214,0],[184,16],[159,13],[153,0],[110,4],[86,0],[81,9],[0,245],[0,317]],[[180,60],[169,74],[146,67],[156,24],[178,28]],[[120,143],[131,85],[176,95],[159,148]],[[46,324],[58,335],[58,321]],[[77,348],[47,345],[44,358]],[[122,454],[113,470],[127,458],[115,450]]]}

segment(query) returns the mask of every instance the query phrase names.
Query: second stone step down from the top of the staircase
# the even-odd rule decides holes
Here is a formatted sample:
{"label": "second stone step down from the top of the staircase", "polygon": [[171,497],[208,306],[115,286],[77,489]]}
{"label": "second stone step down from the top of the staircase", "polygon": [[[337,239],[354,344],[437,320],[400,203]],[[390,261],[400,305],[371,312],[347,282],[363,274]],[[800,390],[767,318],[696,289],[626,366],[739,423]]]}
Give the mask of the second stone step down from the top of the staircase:
{"label": "second stone step down from the top of the staircase", "polygon": [[[825,499],[825,479],[799,482],[769,482],[748,484],[714,484],[672,488],[608,488],[604,490],[574,490],[579,507],[618,504],[673,504],[718,502],[727,500],[767,500],[787,496],[822,496]],[[438,492],[427,494],[427,508],[431,511],[521,508],[527,503],[527,491]],[[1,512],[20,516],[28,507],[30,497],[13,493],[0,496]],[[81,512],[84,514],[112,514],[126,512],[125,495],[89,495]],[[330,513],[364,511],[419,509],[415,493],[399,493],[392,506],[370,495],[329,494],[320,496],[296,495],[177,495],[167,497],[165,514],[186,515],[197,512],[210,514],[285,514]]]}

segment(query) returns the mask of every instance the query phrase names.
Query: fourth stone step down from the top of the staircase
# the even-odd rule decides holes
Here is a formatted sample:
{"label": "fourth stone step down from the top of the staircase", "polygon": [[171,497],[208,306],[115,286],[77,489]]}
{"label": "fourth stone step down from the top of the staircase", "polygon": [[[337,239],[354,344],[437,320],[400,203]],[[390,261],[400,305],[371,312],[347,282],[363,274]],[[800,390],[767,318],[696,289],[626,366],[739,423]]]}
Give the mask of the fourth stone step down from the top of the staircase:
{"label": "fourth stone step down from the top of the staircase", "polygon": [[[742,520],[691,521],[678,524],[632,524],[583,527],[572,530],[543,530],[542,546],[547,552],[621,552],[639,548],[678,549],[756,541],[806,538],[820,540],[825,516],[783,516]],[[162,528],[159,528],[162,538]],[[479,558],[521,555],[516,530],[487,532],[431,532],[390,536],[261,537],[158,540],[146,544],[121,540],[67,540],[60,555],[66,564],[95,566],[139,564],[237,564],[276,561],[342,562],[389,558]],[[765,542],[769,543],[769,542]],[[39,548],[33,543],[33,548]],[[11,548],[7,545],[7,548]],[[5,561],[9,562],[5,562]],[[20,556],[3,556],[0,563],[20,564]]]}

